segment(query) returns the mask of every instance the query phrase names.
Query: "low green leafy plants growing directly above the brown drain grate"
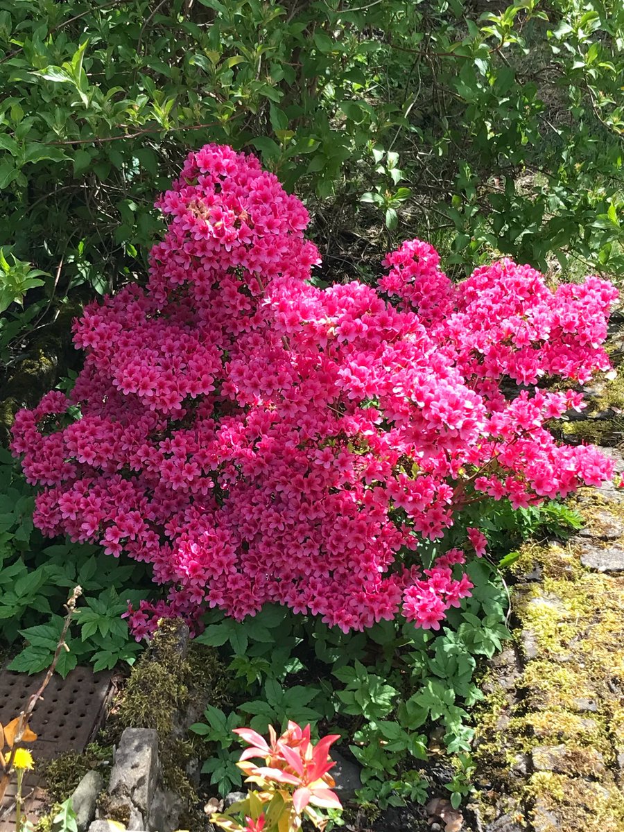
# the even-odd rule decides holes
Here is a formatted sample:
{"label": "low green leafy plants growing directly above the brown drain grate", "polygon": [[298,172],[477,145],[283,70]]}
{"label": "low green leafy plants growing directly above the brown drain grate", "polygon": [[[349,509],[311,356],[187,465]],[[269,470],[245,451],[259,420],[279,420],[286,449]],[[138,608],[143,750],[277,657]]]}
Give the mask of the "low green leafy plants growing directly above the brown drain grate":
{"label": "low green leafy plants growing directly above the brown drain grate", "polygon": [[141,649],[121,614],[127,601],[137,603],[146,591],[141,567],[103,557],[97,546],[57,542],[49,545],[32,525],[34,498],[11,455],[0,448],[0,637],[9,645],[26,642],[9,668],[42,671],[52,662],[62,629],[67,592],[79,584],[83,596],[67,636],[57,671],[62,676],[79,661],[94,670],[131,664]]}

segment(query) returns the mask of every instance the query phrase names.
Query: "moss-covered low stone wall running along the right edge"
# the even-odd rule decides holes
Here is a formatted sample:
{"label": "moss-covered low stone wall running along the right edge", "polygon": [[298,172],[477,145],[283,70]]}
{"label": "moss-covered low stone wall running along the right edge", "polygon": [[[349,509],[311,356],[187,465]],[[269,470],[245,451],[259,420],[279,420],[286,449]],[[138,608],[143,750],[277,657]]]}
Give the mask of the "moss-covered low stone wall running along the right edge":
{"label": "moss-covered low stone wall running along the right edge", "polygon": [[624,494],[575,503],[585,529],[514,566],[515,640],[478,715],[477,832],[624,832]]}

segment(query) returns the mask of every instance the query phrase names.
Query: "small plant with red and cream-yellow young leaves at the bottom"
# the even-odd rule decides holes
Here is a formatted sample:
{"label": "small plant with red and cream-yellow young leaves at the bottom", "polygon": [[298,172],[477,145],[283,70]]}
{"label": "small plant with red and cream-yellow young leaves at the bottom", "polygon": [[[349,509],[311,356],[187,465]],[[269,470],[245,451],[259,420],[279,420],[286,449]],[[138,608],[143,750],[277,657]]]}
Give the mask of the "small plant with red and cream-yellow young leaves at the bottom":
{"label": "small plant with red and cream-yellow young leaves at the bottom", "polygon": [[[323,830],[327,818],[318,809],[342,809],[330,788],[335,784],[329,775],[335,765],[329,759],[329,747],[339,735],[325,736],[314,745],[310,726],[301,728],[293,721],[280,737],[269,726],[270,744],[250,728],[236,728],[234,733],[250,745],[237,765],[246,775],[245,783],[256,788],[226,814],[212,815],[215,825],[227,832],[296,832],[307,818]],[[265,760],[265,765],[250,762],[255,757]],[[244,816],[244,825],[237,816]]]}

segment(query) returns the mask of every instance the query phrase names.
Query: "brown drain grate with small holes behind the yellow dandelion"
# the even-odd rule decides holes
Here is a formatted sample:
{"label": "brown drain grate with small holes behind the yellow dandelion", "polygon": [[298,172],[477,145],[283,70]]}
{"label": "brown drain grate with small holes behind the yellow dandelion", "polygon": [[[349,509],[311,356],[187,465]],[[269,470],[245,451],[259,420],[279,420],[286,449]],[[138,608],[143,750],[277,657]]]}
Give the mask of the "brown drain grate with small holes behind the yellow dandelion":
{"label": "brown drain grate with small holes behind the yellow dandelion", "polygon": [[[26,676],[13,671],[0,672],[0,722],[6,725],[27,705],[41,685],[45,673]],[[75,668],[66,679],[52,676],[43,699],[37,703],[30,727],[38,739],[27,745],[37,760],[50,760],[65,751],[82,751],[92,740],[105,716],[106,701],[111,691],[111,673],[93,673],[89,667]],[[37,772],[27,772],[22,793],[26,796],[28,818],[37,823],[44,806]],[[14,832],[15,785],[12,783],[0,808],[0,832]],[[6,815],[3,810],[8,810]]]}

